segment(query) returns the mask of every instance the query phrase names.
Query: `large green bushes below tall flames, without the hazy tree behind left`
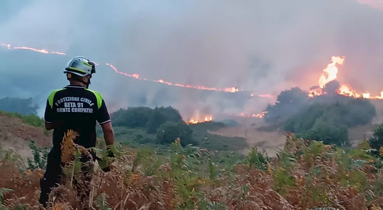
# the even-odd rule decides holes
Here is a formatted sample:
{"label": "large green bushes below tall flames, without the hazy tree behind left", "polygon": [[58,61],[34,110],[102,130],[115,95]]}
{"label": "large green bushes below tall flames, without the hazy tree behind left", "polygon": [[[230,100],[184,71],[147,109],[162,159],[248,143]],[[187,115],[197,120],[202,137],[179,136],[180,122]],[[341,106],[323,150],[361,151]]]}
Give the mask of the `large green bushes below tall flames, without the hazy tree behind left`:
{"label": "large green bushes below tall flames, without the hazy tree behind left", "polygon": [[376,116],[368,100],[352,98],[347,103],[315,103],[286,120],[284,129],[325,144],[348,144],[348,129],[371,123]]}

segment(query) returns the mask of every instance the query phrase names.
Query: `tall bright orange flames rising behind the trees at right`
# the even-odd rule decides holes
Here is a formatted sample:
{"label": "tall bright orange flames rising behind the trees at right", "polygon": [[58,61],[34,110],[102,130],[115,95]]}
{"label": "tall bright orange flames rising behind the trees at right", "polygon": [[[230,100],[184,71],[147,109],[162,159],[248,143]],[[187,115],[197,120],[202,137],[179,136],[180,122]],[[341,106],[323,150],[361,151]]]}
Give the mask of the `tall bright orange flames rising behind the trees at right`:
{"label": "tall bright orange flames rising behind the trees at right", "polygon": [[[316,89],[311,89],[309,97],[326,94],[323,88],[326,87],[326,84],[337,79],[338,67],[337,65],[343,65],[345,57],[332,56],[331,63],[327,65],[326,69],[323,69],[322,75],[319,77],[318,84],[319,87]],[[380,92],[380,96],[371,96],[369,92],[364,92],[358,94],[356,90],[352,89],[349,84],[340,84],[339,88],[336,90],[337,94],[345,95],[354,98],[376,98],[383,99],[383,90]]]}

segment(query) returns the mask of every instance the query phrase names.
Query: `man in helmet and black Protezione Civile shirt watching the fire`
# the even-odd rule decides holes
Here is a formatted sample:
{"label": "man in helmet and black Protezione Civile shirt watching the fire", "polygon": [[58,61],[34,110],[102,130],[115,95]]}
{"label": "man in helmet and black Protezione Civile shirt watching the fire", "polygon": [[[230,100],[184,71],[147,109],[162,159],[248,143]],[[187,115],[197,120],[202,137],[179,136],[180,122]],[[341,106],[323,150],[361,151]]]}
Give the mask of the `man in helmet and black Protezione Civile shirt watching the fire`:
{"label": "man in helmet and black Protezione Civile shirt watching the fire", "polygon": [[[48,154],[46,171],[40,179],[41,194],[39,203],[47,206],[51,187],[61,179],[61,145],[64,133],[76,131],[79,136],[74,140],[84,148],[96,146],[96,121],[101,125],[106,146],[114,144],[115,136],[103,97],[100,93],[88,89],[90,78],[96,72],[95,64],[82,56],[71,59],[64,71],[70,84],[62,89],[53,90],[45,108],[45,128],[53,129],[53,147]],[[95,154],[91,153],[93,159]],[[113,153],[108,156],[114,157]],[[87,160],[85,160],[87,161]],[[103,169],[109,171],[110,167]]]}

